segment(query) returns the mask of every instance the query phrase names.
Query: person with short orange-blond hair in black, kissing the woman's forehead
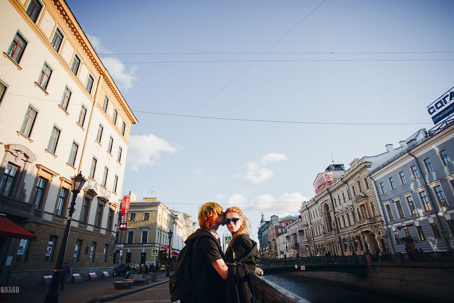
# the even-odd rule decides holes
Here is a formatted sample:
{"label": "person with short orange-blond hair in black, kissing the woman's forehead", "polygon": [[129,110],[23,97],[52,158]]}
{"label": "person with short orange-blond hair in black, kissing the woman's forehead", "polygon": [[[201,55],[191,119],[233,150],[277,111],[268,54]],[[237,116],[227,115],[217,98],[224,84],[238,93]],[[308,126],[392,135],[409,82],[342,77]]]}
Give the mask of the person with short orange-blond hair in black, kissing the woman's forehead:
{"label": "person with short orange-blond hair in black, kissing the woman's forehead", "polygon": [[[222,207],[214,202],[208,202],[199,210],[199,225],[185,241],[186,245],[192,242],[191,262],[191,298],[181,299],[182,303],[212,303],[225,302],[225,280],[228,268],[225,264],[220,246],[220,237],[216,230],[224,223]],[[189,247],[189,246],[188,246]]]}

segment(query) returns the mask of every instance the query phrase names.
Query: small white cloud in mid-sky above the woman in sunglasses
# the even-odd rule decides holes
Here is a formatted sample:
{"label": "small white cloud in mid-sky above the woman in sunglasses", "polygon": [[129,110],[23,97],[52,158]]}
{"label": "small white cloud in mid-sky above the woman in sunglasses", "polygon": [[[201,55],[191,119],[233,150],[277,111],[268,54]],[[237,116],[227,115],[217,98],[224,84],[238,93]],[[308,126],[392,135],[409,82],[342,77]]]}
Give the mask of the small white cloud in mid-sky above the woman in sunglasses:
{"label": "small white cloud in mid-sky above the woman in sunglasses", "polygon": [[264,181],[270,179],[274,175],[274,172],[267,167],[261,167],[261,166],[264,166],[265,164],[267,164],[269,162],[277,162],[277,161],[285,161],[285,160],[287,160],[287,157],[283,154],[275,154],[275,153],[265,154],[262,156],[262,158],[258,162],[246,163],[246,167],[248,168],[246,175],[243,176],[240,174],[235,174],[235,177],[243,178],[243,179],[248,180],[255,184],[264,182]]}

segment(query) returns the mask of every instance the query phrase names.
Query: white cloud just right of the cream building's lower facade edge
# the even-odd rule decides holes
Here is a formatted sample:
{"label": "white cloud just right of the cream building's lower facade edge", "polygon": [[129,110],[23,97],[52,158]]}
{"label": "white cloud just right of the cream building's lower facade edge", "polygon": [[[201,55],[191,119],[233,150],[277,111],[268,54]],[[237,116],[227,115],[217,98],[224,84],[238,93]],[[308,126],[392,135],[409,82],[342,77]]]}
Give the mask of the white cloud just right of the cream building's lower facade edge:
{"label": "white cloud just right of the cream building's lower facade edge", "polygon": [[129,139],[127,167],[139,171],[161,159],[162,153],[174,154],[177,148],[153,134],[132,135]]}

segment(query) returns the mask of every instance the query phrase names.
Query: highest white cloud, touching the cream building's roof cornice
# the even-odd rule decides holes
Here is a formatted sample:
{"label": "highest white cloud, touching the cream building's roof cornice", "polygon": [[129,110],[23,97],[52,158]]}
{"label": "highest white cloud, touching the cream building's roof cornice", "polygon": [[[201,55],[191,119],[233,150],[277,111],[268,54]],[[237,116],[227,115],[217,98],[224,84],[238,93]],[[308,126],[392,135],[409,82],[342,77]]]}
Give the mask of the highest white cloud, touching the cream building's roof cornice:
{"label": "highest white cloud, touching the cream building's roof cornice", "polygon": [[[96,53],[99,54],[111,54],[107,48],[101,43],[101,40],[93,35],[87,34],[88,39],[90,40],[91,45],[93,45]],[[137,83],[136,73],[138,71],[137,66],[132,66],[129,69],[126,68],[125,64],[112,56],[100,57],[102,63],[109,71],[109,74],[112,76],[113,81],[119,86],[120,89],[128,91],[130,88],[133,88]]]}

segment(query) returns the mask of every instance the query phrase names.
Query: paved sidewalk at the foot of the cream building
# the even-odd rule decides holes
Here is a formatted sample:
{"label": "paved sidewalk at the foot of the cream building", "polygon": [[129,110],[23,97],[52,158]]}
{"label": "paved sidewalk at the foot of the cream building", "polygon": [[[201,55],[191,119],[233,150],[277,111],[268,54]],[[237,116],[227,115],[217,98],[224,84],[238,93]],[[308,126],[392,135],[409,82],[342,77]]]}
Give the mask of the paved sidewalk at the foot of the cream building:
{"label": "paved sidewalk at the foot of the cream building", "polygon": [[[120,281],[124,277],[115,277],[110,279],[100,279],[96,281],[83,281],[83,282],[71,282],[65,284],[65,290],[59,293],[59,302],[64,303],[86,303],[86,302],[97,302],[97,301],[111,301],[113,299],[119,299],[123,295],[134,293],[139,291],[143,292],[145,289],[151,287],[161,287],[160,292],[164,293],[163,289],[166,290],[166,296],[168,302],[170,302],[170,295],[168,292],[168,277],[158,275],[156,282],[150,282],[143,286],[133,286],[131,289],[115,289],[113,288],[114,281]],[[160,285],[161,286],[154,286]],[[47,285],[40,285],[34,287],[20,287],[19,293],[10,293],[9,298],[6,302],[8,303],[23,303],[27,301],[42,302],[47,294]],[[161,295],[162,296],[162,295]]]}

